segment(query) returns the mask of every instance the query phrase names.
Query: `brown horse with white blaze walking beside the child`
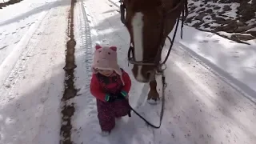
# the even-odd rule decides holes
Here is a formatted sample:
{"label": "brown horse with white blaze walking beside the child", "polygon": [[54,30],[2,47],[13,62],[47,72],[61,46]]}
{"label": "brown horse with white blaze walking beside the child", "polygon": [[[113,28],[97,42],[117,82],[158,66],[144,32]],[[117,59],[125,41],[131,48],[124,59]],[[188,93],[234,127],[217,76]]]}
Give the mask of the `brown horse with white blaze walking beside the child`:
{"label": "brown horse with white blaze walking beside the child", "polygon": [[[130,34],[128,59],[134,64],[134,78],[138,82],[150,82],[148,100],[157,102],[159,94],[155,74],[162,72],[162,65],[170,54],[169,51],[164,62],[161,62],[162,47],[176,23],[175,38],[181,14],[183,26],[187,0],[122,0],[121,14]],[[174,38],[170,41],[171,46]]]}

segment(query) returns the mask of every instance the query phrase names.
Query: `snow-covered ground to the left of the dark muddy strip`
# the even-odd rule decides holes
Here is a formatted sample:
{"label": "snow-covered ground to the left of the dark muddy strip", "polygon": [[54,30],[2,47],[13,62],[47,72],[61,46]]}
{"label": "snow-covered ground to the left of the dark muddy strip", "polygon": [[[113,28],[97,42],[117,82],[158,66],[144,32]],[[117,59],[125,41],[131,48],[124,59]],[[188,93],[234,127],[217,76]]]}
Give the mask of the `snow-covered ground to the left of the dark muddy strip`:
{"label": "snow-covered ground to the left of the dark muddy strip", "polygon": [[0,10],[1,144],[59,142],[69,9],[26,0]]}

